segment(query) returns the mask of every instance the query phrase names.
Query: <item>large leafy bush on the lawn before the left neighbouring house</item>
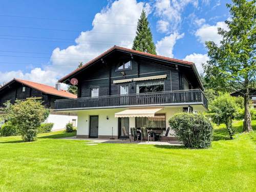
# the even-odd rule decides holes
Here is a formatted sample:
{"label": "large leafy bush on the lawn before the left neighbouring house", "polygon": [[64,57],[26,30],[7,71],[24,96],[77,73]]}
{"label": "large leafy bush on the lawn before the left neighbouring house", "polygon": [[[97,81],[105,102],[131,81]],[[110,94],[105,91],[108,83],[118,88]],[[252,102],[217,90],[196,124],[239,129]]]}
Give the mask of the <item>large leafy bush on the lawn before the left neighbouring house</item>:
{"label": "large leafy bush on the lawn before the left neighbouring house", "polygon": [[40,123],[49,115],[49,110],[34,99],[16,100],[14,104],[6,103],[7,119],[17,127],[25,142],[33,141]]}

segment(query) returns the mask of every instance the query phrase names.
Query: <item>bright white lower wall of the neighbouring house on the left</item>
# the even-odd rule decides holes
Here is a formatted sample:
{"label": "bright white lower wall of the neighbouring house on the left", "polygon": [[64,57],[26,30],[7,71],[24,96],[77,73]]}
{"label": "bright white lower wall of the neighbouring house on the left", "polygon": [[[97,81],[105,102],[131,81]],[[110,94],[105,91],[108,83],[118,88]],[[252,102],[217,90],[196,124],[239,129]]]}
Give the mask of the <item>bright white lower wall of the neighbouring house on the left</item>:
{"label": "bright white lower wall of the neighbouring house on the left", "polygon": [[77,126],[77,116],[71,116],[71,115],[50,114],[49,117],[45,120],[45,123],[54,123],[52,131],[57,131],[57,130],[65,129],[67,123],[72,123],[72,119],[76,119],[76,126]]}

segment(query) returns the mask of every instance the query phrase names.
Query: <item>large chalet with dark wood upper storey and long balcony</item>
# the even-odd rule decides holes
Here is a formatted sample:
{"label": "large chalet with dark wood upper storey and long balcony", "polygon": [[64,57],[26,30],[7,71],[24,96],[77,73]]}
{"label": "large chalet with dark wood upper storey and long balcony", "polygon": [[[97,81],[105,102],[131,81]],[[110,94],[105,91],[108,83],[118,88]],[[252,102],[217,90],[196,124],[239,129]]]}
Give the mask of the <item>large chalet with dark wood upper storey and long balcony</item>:
{"label": "large chalet with dark wood upper storey and long balcony", "polygon": [[165,131],[174,114],[207,110],[193,62],[117,46],[59,82],[77,83],[78,98],[55,101],[55,111],[78,115],[77,137],[122,138],[122,127]]}

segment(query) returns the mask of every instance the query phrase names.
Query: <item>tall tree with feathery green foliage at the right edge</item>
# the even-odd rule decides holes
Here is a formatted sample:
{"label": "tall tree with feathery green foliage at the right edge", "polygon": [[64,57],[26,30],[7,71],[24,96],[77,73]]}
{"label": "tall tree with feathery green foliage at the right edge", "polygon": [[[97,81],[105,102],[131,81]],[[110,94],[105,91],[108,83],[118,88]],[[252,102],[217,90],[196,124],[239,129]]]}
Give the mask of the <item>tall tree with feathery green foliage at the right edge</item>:
{"label": "tall tree with feathery green foliage at the right edge", "polygon": [[219,28],[223,40],[220,46],[206,42],[210,60],[204,65],[206,87],[217,90],[239,91],[244,97],[243,131],[252,131],[249,112],[249,90],[255,88],[255,0],[232,0],[227,4],[230,19],[228,30]]}

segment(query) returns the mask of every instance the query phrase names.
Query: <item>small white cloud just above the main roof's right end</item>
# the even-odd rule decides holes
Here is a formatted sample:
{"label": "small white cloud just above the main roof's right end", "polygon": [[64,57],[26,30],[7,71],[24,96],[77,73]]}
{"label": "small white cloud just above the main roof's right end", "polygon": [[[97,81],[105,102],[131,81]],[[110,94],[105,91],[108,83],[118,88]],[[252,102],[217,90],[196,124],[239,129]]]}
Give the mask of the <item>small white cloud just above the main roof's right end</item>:
{"label": "small white cloud just above the main roof's right end", "polygon": [[193,53],[187,55],[183,60],[194,62],[199,74],[201,74],[204,72],[202,63],[205,63],[207,60],[209,60],[209,57],[207,54]]}

